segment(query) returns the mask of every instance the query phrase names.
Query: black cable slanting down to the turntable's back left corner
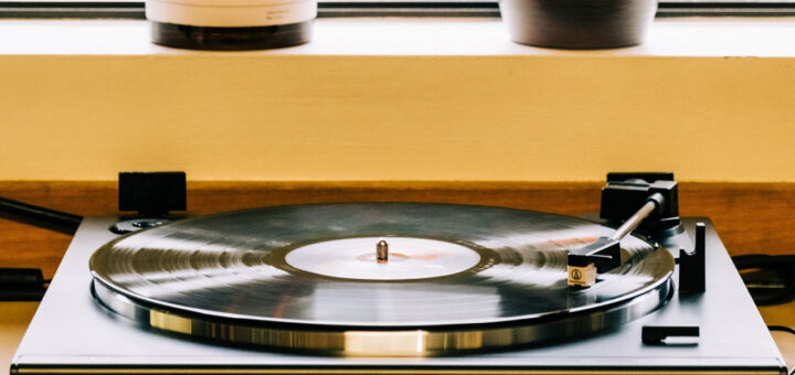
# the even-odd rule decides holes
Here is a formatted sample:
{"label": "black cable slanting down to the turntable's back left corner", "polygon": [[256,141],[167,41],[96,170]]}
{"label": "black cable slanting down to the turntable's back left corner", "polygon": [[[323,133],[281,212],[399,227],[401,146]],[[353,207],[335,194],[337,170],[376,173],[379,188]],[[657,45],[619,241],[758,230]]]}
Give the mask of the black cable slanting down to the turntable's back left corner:
{"label": "black cable slanting down to the turntable's back left corner", "polygon": [[0,217],[74,235],[83,216],[0,197]]}

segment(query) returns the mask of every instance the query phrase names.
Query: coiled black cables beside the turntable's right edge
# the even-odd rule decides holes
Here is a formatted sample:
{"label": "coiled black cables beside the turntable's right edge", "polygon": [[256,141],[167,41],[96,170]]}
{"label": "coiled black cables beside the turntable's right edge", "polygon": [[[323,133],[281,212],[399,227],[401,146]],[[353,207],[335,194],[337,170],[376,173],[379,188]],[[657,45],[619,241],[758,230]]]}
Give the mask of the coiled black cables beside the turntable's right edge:
{"label": "coiled black cables beside the turntable's right edge", "polygon": [[741,255],[732,257],[757,306],[795,300],[795,255]]}

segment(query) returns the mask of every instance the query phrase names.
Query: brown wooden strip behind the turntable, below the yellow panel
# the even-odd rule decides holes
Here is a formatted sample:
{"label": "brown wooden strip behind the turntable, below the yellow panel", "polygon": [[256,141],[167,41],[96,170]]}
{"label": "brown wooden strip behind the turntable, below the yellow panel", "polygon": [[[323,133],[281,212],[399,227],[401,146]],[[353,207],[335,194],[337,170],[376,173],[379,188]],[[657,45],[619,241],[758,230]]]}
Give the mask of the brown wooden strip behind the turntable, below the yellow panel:
{"label": "brown wooden strip behind the turntable, below the yellow panel", "polygon": [[[598,210],[602,182],[189,182],[190,214],[320,202],[488,204],[568,215]],[[80,215],[117,214],[112,182],[0,182],[0,196]],[[732,255],[795,253],[795,183],[693,183],[679,192],[683,216],[708,216]],[[0,219],[0,267],[50,277],[70,236]]]}

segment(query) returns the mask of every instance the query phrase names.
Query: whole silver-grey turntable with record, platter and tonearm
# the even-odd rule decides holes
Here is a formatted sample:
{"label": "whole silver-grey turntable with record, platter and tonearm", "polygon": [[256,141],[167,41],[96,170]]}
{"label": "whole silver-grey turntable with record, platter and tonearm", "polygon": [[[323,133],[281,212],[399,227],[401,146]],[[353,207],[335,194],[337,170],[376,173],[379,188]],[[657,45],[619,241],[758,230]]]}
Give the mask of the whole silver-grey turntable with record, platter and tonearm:
{"label": "whole silver-grey turntable with record, platter and tonearm", "polygon": [[670,174],[608,175],[601,218],[149,208],[83,221],[12,374],[786,372],[710,222],[679,218]]}

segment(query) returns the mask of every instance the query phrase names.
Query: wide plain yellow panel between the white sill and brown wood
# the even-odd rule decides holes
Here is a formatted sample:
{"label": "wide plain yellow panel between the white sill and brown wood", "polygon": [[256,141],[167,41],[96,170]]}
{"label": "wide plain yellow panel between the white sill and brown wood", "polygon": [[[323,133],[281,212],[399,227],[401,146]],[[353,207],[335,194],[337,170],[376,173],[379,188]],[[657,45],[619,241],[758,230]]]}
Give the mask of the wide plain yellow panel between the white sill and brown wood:
{"label": "wide plain yellow panel between the white sill and brown wood", "polygon": [[795,60],[2,56],[0,180],[795,181]]}

